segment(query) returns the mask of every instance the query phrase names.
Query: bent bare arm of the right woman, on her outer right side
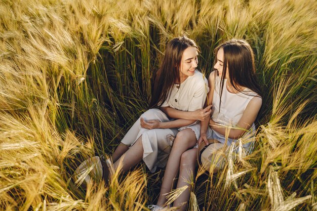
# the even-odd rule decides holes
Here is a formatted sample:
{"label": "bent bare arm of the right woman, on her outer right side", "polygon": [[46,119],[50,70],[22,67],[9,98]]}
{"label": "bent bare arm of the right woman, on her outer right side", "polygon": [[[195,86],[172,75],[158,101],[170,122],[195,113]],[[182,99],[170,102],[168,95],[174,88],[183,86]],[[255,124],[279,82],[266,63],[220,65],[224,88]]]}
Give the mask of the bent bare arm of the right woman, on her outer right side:
{"label": "bent bare arm of the right woman, on her outer right side", "polygon": [[[229,136],[228,136],[230,139],[241,138],[245,134],[245,132],[251,128],[251,125],[254,123],[259,113],[261,105],[262,105],[262,98],[260,97],[252,98],[252,100],[247,105],[247,108],[244,111],[241,119],[236,124],[236,128],[230,129]],[[219,124],[217,125],[217,123],[213,119],[210,119],[209,124],[211,125],[214,131],[225,136],[226,129],[223,126],[220,126]]]}

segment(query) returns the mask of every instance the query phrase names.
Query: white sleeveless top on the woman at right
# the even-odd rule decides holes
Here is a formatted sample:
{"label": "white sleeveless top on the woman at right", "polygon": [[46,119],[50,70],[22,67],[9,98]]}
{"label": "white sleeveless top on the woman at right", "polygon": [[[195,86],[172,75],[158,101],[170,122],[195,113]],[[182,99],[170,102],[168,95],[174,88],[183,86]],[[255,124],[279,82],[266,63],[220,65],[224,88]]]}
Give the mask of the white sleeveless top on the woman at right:
{"label": "white sleeveless top on the woman at right", "polygon": [[[255,92],[249,89],[243,90],[242,93],[230,93],[227,90],[226,82],[227,79],[224,79],[224,86],[221,96],[221,106],[219,108],[220,102],[220,83],[221,78],[219,76],[215,77],[215,90],[213,95],[213,114],[212,119],[224,126],[228,126],[229,128],[234,128],[241,119],[244,111],[246,110],[247,105],[250,100],[257,96]],[[247,133],[244,134],[242,138],[254,136],[255,134],[255,125],[254,123],[251,125],[251,128]],[[221,143],[225,143],[225,137],[216,131],[213,130],[212,137],[217,139]],[[234,139],[228,138],[227,144],[230,145]],[[245,144],[244,147],[248,148],[250,146],[250,142]]]}

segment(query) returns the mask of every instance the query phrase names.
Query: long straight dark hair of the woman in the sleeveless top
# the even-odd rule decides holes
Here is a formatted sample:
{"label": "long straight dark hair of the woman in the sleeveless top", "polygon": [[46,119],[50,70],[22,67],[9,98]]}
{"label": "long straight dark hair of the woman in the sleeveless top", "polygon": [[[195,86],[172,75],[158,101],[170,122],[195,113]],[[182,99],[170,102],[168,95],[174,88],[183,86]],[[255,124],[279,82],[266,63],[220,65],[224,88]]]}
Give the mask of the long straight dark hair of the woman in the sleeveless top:
{"label": "long straight dark hair of the woman in the sleeveless top", "polygon": [[[224,55],[220,82],[220,99],[222,96],[227,66],[229,70],[229,80],[235,90],[245,95],[249,95],[246,92],[242,92],[243,90],[240,90],[236,86],[246,87],[262,97],[262,91],[256,76],[254,53],[247,41],[244,39],[230,39],[218,46],[215,49],[215,63],[217,62],[219,49],[223,49]],[[218,71],[215,71],[215,73],[218,73]]]}

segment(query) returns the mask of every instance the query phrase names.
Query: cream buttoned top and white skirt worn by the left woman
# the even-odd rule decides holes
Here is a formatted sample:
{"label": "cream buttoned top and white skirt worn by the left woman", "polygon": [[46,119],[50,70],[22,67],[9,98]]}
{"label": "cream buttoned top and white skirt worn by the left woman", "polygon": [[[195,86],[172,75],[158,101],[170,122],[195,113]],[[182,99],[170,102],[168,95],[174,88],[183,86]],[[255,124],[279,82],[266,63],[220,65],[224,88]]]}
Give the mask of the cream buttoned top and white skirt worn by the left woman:
{"label": "cream buttoned top and white skirt worn by the left woman", "polygon": [[[168,99],[163,103],[162,107],[170,106],[183,111],[194,111],[204,107],[207,93],[209,91],[208,81],[206,77],[195,70],[192,76],[187,77],[181,84],[174,85]],[[149,109],[140,117],[145,120],[157,119],[160,121],[171,121],[160,109]],[[140,126],[140,118],[132,125],[126,136],[121,141],[126,145],[133,145],[135,141],[142,135],[143,145],[143,161],[149,168],[150,172],[155,172],[156,167],[165,167],[168,156],[171,152],[174,137],[179,130],[191,128],[196,138],[200,136],[200,128],[197,130],[192,125],[183,126],[180,129],[144,129]]]}

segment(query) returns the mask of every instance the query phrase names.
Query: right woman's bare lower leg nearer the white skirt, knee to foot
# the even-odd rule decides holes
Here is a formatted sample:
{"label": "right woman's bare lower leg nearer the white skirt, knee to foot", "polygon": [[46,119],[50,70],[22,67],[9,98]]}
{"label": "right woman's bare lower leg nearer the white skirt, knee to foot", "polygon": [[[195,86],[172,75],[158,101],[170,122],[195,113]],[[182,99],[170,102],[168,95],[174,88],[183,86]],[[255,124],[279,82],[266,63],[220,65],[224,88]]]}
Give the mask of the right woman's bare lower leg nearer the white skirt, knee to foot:
{"label": "right woman's bare lower leg nearer the white skirt, knee to foot", "polygon": [[180,159],[183,152],[195,146],[197,143],[196,136],[191,129],[185,129],[179,132],[174,140],[171,154],[167,161],[161,192],[157,205],[164,206],[167,202],[166,193],[171,192],[174,178],[179,169]]}

